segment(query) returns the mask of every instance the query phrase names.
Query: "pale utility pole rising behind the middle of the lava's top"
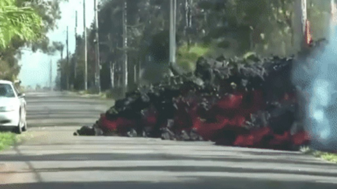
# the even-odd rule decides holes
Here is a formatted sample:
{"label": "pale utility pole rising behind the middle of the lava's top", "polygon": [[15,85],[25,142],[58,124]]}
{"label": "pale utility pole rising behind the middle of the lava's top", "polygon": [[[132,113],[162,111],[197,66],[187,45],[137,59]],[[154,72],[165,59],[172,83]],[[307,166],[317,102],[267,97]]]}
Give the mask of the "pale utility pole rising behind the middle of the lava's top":
{"label": "pale utility pole rising behind the middle of the lava's top", "polygon": [[[170,64],[175,64],[175,32],[176,32],[176,0],[170,0],[170,17],[169,17],[169,62]],[[172,72],[170,73],[172,75]]]}

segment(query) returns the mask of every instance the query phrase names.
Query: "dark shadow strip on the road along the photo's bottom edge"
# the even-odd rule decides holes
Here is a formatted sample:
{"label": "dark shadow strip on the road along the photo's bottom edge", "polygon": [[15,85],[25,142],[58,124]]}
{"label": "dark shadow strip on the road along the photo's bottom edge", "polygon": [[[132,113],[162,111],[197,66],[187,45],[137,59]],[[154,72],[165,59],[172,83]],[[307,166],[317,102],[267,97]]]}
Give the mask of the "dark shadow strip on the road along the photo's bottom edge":
{"label": "dark shadow strip on the road along the photo's bottom edge", "polygon": [[90,182],[90,183],[34,183],[0,186],[2,189],[336,189],[325,183],[261,181],[258,179],[199,178],[196,182]]}

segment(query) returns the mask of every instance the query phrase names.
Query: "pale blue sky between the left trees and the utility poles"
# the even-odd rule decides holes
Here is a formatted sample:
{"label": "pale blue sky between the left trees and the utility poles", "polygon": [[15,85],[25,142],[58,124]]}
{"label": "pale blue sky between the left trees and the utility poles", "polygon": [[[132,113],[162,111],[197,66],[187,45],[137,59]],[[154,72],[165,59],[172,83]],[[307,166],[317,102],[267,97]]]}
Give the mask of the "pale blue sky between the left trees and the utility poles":
{"label": "pale blue sky between the left trees and the utility poles", "polygon": [[[94,1],[85,0],[86,5],[86,27],[89,27],[94,19]],[[73,53],[75,50],[75,18],[76,11],[78,11],[78,27],[77,34],[81,35],[84,31],[83,26],[83,0],[69,0],[69,2],[62,2],[60,4],[61,19],[57,22],[57,29],[50,31],[47,36],[50,43],[53,41],[60,41],[66,44],[66,30],[69,26],[69,51]],[[19,79],[23,86],[35,87],[37,84],[41,86],[49,86],[49,72],[50,61],[52,61],[52,78],[55,86],[55,79],[57,73],[57,60],[60,59],[60,53],[56,52],[54,56],[49,56],[42,52],[33,53],[28,50],[23,50],[23,55],[19,61],[21,71]],[[66,55],[66,47],[63,51],[63,57]]]}

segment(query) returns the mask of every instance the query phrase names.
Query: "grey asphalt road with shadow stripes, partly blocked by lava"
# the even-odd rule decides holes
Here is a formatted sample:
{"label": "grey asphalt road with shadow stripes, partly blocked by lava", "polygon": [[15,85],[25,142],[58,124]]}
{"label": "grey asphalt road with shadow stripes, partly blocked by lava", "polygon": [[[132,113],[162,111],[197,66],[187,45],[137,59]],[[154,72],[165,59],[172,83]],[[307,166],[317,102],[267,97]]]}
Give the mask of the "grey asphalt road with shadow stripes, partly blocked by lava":
{"label": "grey asphalt road with shadow stripes, partly blocked by lava", "polygon": [[0,153],[4,189],[337,189],[337,165],[296,152],[75,137],[112,101],[28,94],[24,142]]}

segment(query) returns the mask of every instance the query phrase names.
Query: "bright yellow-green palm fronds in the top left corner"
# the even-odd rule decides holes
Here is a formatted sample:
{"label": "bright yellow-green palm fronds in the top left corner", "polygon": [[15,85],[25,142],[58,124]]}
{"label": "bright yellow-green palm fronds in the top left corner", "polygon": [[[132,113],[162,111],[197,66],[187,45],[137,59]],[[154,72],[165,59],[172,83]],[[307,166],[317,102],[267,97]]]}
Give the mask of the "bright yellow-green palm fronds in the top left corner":
{"label": "bright yellow-green palm fronds in the top left corner", "polygon": [[16,0],[0,0],[0,49],[13,37],[36,40],[41,36],[42,19],[29,6],[18,7]]}

